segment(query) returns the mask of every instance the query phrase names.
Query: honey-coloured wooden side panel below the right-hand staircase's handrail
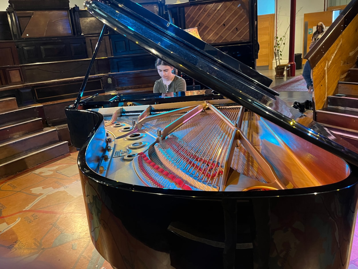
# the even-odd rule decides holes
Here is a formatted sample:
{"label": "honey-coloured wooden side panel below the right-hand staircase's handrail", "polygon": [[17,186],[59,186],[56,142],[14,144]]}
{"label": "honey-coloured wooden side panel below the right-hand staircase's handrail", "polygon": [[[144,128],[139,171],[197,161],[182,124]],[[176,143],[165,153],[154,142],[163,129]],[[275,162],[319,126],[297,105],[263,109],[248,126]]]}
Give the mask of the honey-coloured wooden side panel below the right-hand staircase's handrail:
{"label": "honey-coloured wooden side panel below the right-hand staircase's handrail", "polygon": [[338,81],[344,81],[358,55],[358,16],[337,38],[313,69],[316,110],[326,106],[326,98],[338,91]]}

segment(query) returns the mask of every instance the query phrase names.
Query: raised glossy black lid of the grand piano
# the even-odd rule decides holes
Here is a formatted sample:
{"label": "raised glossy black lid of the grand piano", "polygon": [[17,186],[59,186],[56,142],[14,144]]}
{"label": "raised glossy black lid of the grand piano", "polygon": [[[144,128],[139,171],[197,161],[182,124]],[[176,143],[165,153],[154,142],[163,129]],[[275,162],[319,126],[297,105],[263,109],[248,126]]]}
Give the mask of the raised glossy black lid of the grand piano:
{"label": "raised glossy black lid of the grand piano", "polygon": [[358,165],[357,148],[276,98],[279,94],[268,87],[272,80],[257,71],[130,0],[86,1],[84,7],[118,33],[208,88]]}

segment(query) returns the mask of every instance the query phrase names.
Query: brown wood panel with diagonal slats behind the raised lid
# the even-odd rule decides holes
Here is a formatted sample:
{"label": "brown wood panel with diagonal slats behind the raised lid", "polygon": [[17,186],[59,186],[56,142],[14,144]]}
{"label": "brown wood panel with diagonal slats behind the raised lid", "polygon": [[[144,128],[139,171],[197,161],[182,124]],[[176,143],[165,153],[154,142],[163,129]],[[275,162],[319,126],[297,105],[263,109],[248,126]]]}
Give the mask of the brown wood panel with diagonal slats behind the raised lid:
{"label": "brown wood panel with diagonal slats behind the raised lid", "polygon": [[186,28],[198,27],[207,43],[249,39],[249,19],[242,1],[226,1],[185,7]]}

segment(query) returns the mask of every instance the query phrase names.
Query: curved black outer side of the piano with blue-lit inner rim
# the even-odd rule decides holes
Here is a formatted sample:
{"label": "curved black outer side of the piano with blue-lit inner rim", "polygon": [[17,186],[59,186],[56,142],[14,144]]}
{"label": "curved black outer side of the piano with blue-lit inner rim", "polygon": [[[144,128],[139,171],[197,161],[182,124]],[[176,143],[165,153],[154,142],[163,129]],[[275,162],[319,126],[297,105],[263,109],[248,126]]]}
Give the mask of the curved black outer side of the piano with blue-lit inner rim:
{"label": "curved black outer side of the piano with blue-lit inner rim", "polygon": [[336,183],[270,191],[121,183],[100,175],[105,124],[87,113],[98,122],[78,154],[83,195],[92,242],[113,268],[348,268],[356,166]]}

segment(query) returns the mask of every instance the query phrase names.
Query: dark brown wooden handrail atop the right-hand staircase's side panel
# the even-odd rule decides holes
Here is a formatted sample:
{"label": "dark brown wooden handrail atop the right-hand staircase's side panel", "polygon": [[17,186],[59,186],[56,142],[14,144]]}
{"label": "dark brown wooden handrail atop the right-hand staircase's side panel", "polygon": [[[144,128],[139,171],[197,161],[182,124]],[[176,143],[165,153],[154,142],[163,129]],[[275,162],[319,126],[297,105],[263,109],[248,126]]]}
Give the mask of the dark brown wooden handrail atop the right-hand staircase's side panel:
{"label": "dark brown wooden handrail atop the right-hand staircase's side panel", "polygon": [[348,24],[357,15],[358,0],[350,1],[343,11],[338,15],[323,36],[304,56],[310,62],[311,69],[321,60],[329,48],[333,45],[340,34],[347,28]]}

